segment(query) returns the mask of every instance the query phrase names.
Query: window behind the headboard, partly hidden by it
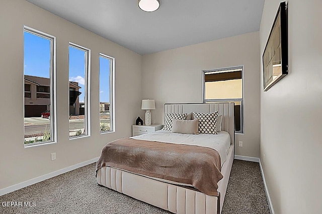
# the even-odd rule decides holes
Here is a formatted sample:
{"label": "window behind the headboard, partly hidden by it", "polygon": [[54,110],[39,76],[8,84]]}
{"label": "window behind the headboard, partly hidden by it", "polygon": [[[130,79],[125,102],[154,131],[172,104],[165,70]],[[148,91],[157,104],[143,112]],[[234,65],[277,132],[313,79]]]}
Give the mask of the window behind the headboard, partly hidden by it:
{"label": "window behind the headboard, partly hidden by it", "polygon": [[203,101],[234,102],[235,131],[243,133],[243,66],[203,71]]}

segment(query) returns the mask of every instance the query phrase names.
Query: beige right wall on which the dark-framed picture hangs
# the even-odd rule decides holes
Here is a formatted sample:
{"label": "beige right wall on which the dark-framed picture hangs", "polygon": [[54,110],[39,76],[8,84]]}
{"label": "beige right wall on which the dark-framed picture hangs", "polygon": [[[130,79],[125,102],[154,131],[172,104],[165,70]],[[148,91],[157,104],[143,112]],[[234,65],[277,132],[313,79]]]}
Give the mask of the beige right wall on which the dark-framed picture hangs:
{"label": "beige right wall on which the dark-framed picture hangs", "polygon": [[[279,3],[265,1],[260,57]],[[321,8],[288,1],[289,74],[267,92],[261,81],[261,163],[275,213],[322,210]]]}

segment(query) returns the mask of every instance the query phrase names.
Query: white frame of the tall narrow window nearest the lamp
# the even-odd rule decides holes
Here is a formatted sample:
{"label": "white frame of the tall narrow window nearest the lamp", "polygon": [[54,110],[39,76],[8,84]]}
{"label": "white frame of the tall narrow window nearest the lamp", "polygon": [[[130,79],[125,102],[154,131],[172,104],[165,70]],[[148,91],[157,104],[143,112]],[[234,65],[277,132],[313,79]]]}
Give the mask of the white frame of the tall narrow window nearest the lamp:
{"label": "white frame of the tall narrow window nearest the lamp", "polygon": [[[101,132],[100,128],[99,128],[99,132],[100,134],[106,134],[106,133],[111,133],[111,132],[115,132],[115,111],[114,111],[114,100],[115,100],[115,58],[114,57],[110,57],[106,54],[99,54],[99,59],[100,57],[103,58],[107,58],[109,60],[111,60],[110,63],[110,130],[109,131],[103,131]],[[100,71],[101,69],[99,68],[99,99],[100,99]],[[100,104],[100,100],[99,100],[99,104]],[[99,118],[100,120],[100,118]],[[99,124],[100,125],[100,124]]]}

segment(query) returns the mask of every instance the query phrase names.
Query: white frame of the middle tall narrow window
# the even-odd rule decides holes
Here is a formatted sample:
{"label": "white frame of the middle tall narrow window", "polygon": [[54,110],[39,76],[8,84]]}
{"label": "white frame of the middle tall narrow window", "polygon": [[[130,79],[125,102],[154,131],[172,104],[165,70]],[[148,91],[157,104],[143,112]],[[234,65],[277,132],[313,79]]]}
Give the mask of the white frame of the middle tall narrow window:
{"label": "white frame of the middle tall narrow window", "polygon": [[[78,139],[82,137],[89,137],[91,136],[91,49],[85,48],[84,46],[77,45],[75,43],[69,42],[68,43],[68,67],[69,67],[69,47],[81,50],[85,52],[85,96],[84,96],[84,105],[85,105],[85,118],[84,118],[84,135],[79,136],[68,136],[69,140]],[[68,69],[68,94],[69,94],[69,69]],[[69,95],[68,95],[68,115],[69,115]],[[70,130],[69,126],[69,120],[68,120],[68,132]]]}

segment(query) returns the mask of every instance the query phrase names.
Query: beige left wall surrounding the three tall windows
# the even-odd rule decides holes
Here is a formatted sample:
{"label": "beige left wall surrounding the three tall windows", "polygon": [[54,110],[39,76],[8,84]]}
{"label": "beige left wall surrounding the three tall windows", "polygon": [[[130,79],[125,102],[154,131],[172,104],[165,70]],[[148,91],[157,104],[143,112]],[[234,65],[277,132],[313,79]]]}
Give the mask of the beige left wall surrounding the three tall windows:
{"label": "beige left wall surrounding the three tall windows", "polygon": [[[58,143],[29,148],[24,148],[24,25],[57,38]],[[6,100],[0,103],[0,189],[98,157],[108,141],[131,136],[131,124],[134,124],[141,112],[140,55],[23,0],[0,1],[0,26],[0,91],[3,92],[0,96],[1,100]],[[69,42],[92,51],[92,136],[73,140],[69,140],[68,134]],[[99,53],[115,57],[116,61],[116,132],[101,135],[99,134]],[[135,84],[132,84],[133,82]],[[4,93],[6,91],[9,93]],[[57,156],[54,161],[50,160],[52,152],[56,152]]]}

